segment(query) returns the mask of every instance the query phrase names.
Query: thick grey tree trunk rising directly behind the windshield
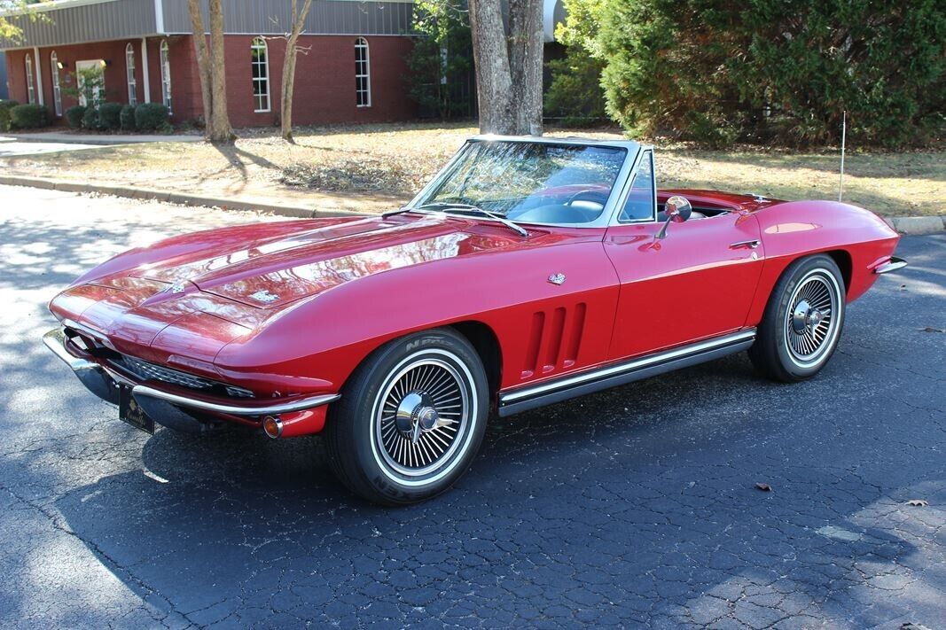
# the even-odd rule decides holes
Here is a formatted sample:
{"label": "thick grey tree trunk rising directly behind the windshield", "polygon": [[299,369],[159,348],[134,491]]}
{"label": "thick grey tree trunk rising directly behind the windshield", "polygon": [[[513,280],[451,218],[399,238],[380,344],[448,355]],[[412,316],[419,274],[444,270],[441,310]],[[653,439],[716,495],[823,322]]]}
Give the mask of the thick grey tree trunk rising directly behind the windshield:
{"label": "thick grey tree trunk rising directly behind the windshield", "polygon": [[[480,131],[542,134],[542,2],[470,0]],[[507,26],[508,25],[508,26]]]}

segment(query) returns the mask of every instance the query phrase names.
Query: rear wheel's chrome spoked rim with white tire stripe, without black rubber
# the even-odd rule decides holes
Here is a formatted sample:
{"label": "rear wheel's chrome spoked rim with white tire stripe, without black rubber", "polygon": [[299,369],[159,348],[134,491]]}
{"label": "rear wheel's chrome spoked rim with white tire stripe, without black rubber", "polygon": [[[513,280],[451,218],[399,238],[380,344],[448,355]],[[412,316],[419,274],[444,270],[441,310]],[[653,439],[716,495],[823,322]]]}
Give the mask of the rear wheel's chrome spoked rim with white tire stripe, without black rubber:
{"label": "rear wheel's chrome spoked rim with white tire stripe, without black rubber", "polygon": [[790,359],[811,367],[837,337],[840,288],[831,273],[810,271],[797,284],[785,313],[784,338]]}

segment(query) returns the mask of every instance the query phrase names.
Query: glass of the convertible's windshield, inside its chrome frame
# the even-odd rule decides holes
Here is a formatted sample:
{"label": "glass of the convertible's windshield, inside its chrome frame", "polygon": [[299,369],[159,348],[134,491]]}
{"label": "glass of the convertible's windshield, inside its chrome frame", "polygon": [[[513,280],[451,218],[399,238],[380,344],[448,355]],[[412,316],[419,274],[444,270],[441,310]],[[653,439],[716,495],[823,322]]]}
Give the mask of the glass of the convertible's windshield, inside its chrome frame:
{"label": "glass of the convertible's windshield, inside its chrome frame", "polygon": [[604,211],[625,156],[612,147],[470,142],[412,207],[472,214],[466,204],[516,221],[587,223]]}

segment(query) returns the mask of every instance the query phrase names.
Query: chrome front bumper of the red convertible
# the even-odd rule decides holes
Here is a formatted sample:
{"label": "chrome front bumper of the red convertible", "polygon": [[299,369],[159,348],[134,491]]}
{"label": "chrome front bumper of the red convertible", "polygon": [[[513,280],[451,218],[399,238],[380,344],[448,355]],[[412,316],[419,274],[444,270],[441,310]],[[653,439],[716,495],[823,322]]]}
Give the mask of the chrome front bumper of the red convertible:
{"label": "chrome front bumper of the red convertible", "polygon": [[[96,361],[76,357],[66,349],[65,333],[61,328],[54,328],[43,336],[43,342],[54,355],[62,359],[66,365],[72,368],[79,380],[86,388],[99,398],[118,403],[119,383],[131,387],[131,394],[136,400],[141,398],[162,400],[170,405],[182,408],[186,411],[209,412],[220,415],[236,415],[241,417],[254,417],[264,415],[279,415],[280,413],[292,413],[295,411],[307,411],[316,407],[322,407],[341,398],[341,394],[316,394],[292,398],[280,402],[256,401],[256,404],[236,404],[231,402],[216,402],[206,400],[196,396],[166,392],[165,390],[135,383],[130,379],[109,370]],[[158,424],[161,418],[154,418]]]}

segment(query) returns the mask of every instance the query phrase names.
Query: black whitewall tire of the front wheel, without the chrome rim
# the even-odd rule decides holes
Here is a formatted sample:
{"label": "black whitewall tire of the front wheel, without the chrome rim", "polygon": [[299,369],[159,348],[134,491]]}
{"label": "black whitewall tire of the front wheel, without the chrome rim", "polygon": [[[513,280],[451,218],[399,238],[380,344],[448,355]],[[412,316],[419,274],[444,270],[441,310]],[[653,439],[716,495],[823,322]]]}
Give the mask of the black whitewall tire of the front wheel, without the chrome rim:
{"label": "black whitewall tire of the front wheel, without the chrome rim", "polygon": [[[397,481],[396,473],[389,473],[376,459],[374,450],[375,403],[378,394],[389,376],[405,359],[436,357],[450,363],[457,360],[438,351],[447,351],[463,365],[456,365],[464,377],[468,371],[472,381],[471,403],[475,412],[470,413],[467,429],[460,436],[463,442],[450,457],[449,472],[438,479],[423,484]],[[463,369],[465,368],[465,370]],[[383,504],[406,504],[430,499],[449,488],[463,476],[472,463],[482,443],[486,419],[489,413],[488,383],[482,361],[473,347],[451,329],[436,329],[408,335],[391,341],[365,360],[359,373],[343,388],[342,401],[331,418],[341,429],[339,439],[340,464],[344,469],[346,483],[365,499]],[[393,472],[393,471],[392,471]]]}

